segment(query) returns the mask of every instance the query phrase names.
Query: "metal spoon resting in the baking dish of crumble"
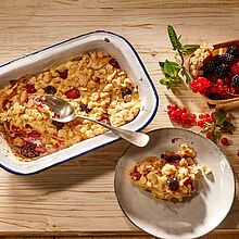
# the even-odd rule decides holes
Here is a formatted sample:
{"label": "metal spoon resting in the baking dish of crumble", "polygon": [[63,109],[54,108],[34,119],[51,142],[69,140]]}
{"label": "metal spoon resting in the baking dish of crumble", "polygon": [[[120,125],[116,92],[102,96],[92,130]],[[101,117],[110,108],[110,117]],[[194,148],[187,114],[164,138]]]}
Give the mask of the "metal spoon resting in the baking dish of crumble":
{"label": "metal spoon resting in the baking dish of crumble", "polygon": [[104,123],[96,121],[93,118],[86,117],[83,115],[77,115],[75,112],[75,109],[67,101],[64,101],[60,98],[52,97],[52,96],[45,96],[45,97],[42,97],[42,99],[43,99],[43,103],[46,105],[48,105],[54,114],[59,115],[59,117],[51,116],[51,118],[53,121],[61,122],[61,123],[67,123],[67,122],[73,121],[76,117],[80,117],[80,118],[97,123],[97,124],[112,130],[115,135],[122,137],[123,139],[125,139],[125,140],[127,140],[138,147],[147,146],[147,143],[150,140],[150,137],[146,134],[113,127],[111,125],[104,124]]}

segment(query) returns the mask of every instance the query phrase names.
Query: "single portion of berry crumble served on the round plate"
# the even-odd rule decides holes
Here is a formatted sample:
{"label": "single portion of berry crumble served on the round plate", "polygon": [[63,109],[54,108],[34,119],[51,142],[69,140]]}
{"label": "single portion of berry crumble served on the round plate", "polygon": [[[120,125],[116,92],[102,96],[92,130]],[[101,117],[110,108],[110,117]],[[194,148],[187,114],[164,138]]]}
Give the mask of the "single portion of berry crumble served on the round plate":
{"label": "single portion of berry crumble served on the round plate", "polygon": [[138,187],[151,191],[154,197],[183,201],[198,190],[202,172],[211,173],[205,165],[200,166],[194,158],[196,152],[184,143],[177,153],[146,158],[130,167],[128,174]]}

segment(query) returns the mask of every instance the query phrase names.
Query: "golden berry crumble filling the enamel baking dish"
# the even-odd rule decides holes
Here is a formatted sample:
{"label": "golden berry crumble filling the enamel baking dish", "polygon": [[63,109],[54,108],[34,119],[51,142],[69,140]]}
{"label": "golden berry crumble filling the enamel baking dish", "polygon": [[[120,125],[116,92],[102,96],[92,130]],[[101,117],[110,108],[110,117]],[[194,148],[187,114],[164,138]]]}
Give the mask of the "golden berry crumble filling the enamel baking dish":
{"label": "golden berry crumble filling the enamel baking dish", "polygon": [[68,101],[77,114],[121,126],[140,109],[137,86],[105,52],[90,52],[32,76],[12,80],[0,90],[0,131],[18,160],[32,161],[106,131],[76,118],[58,124],[35,99],[54,95]]}

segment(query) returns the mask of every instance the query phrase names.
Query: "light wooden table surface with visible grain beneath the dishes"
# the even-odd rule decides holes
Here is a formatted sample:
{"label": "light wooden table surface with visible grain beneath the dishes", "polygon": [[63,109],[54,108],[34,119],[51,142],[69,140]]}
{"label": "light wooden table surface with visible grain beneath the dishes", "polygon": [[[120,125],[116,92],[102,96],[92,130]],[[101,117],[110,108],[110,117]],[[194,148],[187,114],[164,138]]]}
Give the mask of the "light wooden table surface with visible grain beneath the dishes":
{"label": "light wooden table surface with visible grain beneath the dishes", "polygon": [[[123,35],[139,52],[160,95],[159,112],[143,129],[149,131],[172,126],[166,115],[169,102],[193,113],[209,111],[201,97],[185,85],[173,93],[159,84],[162,73],[158,62],[173,58],[168,24],[187,43],[239,38],[239,1],[1,0],[0,63],[90,30]],[[231,114],[239,125],[239,112]],[[229,137],[234,144],[223,148],[235,171],[237,193],[228,216],[214,234],[239,235],[238,136],[237,128]],[[0,236],[143,235],[124,216],[114,194],[114,167],[127,146],[121,140],[27,177],[1,169]]]}

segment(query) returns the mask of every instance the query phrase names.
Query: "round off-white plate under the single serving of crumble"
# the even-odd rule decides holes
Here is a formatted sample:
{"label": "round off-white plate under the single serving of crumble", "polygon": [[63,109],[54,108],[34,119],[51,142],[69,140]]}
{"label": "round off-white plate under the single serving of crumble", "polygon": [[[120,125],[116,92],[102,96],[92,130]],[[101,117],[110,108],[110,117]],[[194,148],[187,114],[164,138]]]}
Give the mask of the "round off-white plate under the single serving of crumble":
{"label": "round off-white plate under the single serving of crumble", "polygon": [[[235,197],[232,169],[225,154],[215,143],[190,130],[162,128],[150,134],[146,148],[130,146],[115,169],[115,193],[118,203],[131,223],[159,238],[198,238],[213,230],[229,212]],[[172,139],[179,138],[175,142]],[[174,140],[173,140],[174,141]],[[177,151],[187,142],[206,164],[212,175],[202,180],[202,189],[187,202],[167,202],[135,186],[128,168],[149,155],[160,156],[165,150]]]}

